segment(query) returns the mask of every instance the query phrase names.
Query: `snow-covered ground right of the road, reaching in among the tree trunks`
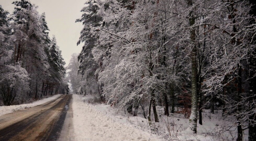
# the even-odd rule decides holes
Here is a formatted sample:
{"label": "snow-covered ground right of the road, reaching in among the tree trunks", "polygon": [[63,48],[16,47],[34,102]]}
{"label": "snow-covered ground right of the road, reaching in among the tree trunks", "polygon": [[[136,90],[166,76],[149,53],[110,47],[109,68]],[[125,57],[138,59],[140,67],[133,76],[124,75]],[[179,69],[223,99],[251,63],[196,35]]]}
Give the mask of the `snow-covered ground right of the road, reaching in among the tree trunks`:
{"label": "snow-covered ground right of the road, reaching in among the tree trunks", "polygon": [[[163,115],[163,107],[157,107],[159,123],[148,124],[141,110],[138,116],[118,111],[105,103],[93,103],[94,97],[73,95],[75,140],[235,140],[236,127],[225,131],[229,122],[221,111],[211,114],[203,111],[203,125],[197,124],[197,134],[188,127],[183,114]],[[152,113],[152,112],[151,112]],[[151,115],[153,119],[153,115]],[[244,134],[246,135],[246,134]],[[246,140],[247,136],[244,137]]]}

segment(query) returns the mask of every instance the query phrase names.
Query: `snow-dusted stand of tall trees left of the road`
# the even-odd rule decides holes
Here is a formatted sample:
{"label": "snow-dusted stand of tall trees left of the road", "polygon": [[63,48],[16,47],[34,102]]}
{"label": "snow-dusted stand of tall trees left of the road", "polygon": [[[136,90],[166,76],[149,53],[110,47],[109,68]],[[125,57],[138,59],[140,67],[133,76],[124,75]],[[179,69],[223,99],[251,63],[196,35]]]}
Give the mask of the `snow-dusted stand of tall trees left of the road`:
{"label": "snow-dusted stand of tall trees left of the road", "polygon": [[29,1],[13,4],[12,14],[0,5],[0,105],[66,93],[65,62],[44,13]]}

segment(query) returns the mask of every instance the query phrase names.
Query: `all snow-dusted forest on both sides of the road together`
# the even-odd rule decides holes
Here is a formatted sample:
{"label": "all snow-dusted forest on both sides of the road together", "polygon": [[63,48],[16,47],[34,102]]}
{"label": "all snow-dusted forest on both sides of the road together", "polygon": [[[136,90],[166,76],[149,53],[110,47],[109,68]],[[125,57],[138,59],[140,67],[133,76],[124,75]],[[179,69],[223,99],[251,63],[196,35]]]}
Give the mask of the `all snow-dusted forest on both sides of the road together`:
{"label": "all snow-dusted forest on both sides of the road together", "polygon": [[216,134],[255,140],[255,0],[87,0],[74,21],[83,48],[66,67],[46,15],[13,4],[0,5],[0,105],[77,93],[141,114],[151,131],[182,114],[194,135],[208,110],[226,122]]}

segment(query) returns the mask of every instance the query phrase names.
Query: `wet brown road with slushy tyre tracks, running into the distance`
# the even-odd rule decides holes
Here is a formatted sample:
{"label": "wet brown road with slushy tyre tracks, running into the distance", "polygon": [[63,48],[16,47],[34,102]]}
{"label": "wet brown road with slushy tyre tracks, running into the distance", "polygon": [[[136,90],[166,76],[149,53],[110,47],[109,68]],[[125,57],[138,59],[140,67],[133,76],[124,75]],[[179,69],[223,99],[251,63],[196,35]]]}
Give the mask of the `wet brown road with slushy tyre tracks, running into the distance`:
{"label": "wet brown road with slushy tyre tracks, running into the distance", "polygon": [[0,116],[0,140],[58,140],[72,95]]}

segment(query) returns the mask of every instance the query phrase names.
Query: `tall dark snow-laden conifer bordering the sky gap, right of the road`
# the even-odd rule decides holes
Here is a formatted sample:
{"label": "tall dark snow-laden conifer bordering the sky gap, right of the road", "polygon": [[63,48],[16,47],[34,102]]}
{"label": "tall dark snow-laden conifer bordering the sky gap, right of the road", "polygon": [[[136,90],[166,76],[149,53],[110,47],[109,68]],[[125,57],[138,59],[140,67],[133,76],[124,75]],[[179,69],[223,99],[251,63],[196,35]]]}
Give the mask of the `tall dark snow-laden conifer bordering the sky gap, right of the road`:
{"label": "tall dark snow-laden conifer bordering the sky gap, right of the road", "polygon": [[[82,8],[83,13],[80,19],[76,22],[83,22],[83,29],[81,31],[80,39],[77,44],[84,43],[83,49],[78,56],[79,69],[78,73],[83,76],[83,81],[81,81],[80,92],[86,93],[98,93],[101,84],[98,84],[96,69],[98,64],[94,61],[92,55],[92,49],[96,45],[96,40],[98,38],[99,26],[102,23],[102,17],[99,10],[100,1],[90,0],[86,2],[86,6]],[[85,87],[84,90],[82,88]]]}

